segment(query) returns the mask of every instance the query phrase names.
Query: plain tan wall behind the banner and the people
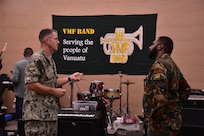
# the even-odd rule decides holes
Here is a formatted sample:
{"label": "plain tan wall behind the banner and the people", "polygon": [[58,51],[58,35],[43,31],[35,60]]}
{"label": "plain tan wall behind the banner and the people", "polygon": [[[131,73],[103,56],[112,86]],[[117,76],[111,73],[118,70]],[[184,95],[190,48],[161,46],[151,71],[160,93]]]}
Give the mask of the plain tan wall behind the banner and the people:
{"label": "plain tan wall behind the banner and the people", "polygon": [[[1,0],[0,49],[8,42],[3,54],[3,73],[10,75],[14,63],[23,57],[25,47],[40,49],[38,33],[52,27],[51,15],[127,15],[158,14],[156,36],[170,36],[175,43],[172,57],[192,88],[204,89],[204,1],[203,0]],[[130,22],[131,23],[131,22]],[[65,76],[65,75],[59,75]],[[129,79],[129,100],[133,114],[142,114],[143,79],[145,76],[123,75]],[[79,90],[88,91],[92,80],[100,80],[105,88],[119,88],[119,75],[85,75],[74,83],[74,100]],[[77,87],[78,85],[78,87]],[[70,103],[70,85],[61,99],[63,107]],[[126,102],[126,85],[122,85],[122,103]],[[119,100],[113,102],[118,108]]]}

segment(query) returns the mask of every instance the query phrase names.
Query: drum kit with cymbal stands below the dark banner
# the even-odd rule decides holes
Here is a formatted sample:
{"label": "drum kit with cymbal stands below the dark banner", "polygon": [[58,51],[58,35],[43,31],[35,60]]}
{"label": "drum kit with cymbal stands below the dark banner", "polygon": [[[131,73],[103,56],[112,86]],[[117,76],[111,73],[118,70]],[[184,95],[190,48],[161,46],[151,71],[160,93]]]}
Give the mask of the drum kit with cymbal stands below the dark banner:
{"label": "drum kit with cymbal stands below the dark banner", "polygon": [[[120,75],[120,89],[104,89],[104,83],[99,80],[91,81],[89,91],[91,94],[83,94],[78,93],[77,97],[78,100],[91,100],[91,97],[103,97],[109,100],[109,103],[106,103],[106,107],[108,108],[108,121],[112,125],[113,123],[113,113],[115,116],[128,116],[131,112],[130,105],[129,105],[129,85],[135,84],[134,82],[130,82],[127,80],[126,82],[122,82],[122,74],[119,71]],[[126,95],[126,103],[122,106],[122,84],[127,86],[127,95]],[[73,87],[73,86],[71,86]],[[73,89],[73,88],[71,88]],[[116,110],[113,110],[113,102],[114,100],[120,100],[120,106]],[[125,107],[125,109],[123,108]]]}

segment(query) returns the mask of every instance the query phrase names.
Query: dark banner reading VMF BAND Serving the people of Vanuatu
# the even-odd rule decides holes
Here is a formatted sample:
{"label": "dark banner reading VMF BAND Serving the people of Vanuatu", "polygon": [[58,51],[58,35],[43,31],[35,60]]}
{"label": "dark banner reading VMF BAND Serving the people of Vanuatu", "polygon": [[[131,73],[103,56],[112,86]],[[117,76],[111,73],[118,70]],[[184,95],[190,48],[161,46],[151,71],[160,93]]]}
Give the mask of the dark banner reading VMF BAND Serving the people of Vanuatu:
{"label": "dark banner reading VMF BAND Serving the people of Vanuatu", "polygon": [[148,48],[155,39],[157,14],[52,16],[59,33],[53,54],[59,74],[145,75],[152,60]]}

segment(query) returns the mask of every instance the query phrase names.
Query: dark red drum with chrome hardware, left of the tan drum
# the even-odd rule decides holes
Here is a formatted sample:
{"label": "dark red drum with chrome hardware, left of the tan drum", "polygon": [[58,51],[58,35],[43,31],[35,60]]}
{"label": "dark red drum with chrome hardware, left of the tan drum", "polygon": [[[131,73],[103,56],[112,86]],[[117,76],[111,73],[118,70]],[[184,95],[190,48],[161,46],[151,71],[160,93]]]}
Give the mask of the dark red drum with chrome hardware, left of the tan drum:
{"label": "dark red drum with chrome hardware, left of the tan drum", "polygon": [[104,83],[98,80],[91,81],[91,85],[89,87],[90,93],[94,94],[102,94]]}

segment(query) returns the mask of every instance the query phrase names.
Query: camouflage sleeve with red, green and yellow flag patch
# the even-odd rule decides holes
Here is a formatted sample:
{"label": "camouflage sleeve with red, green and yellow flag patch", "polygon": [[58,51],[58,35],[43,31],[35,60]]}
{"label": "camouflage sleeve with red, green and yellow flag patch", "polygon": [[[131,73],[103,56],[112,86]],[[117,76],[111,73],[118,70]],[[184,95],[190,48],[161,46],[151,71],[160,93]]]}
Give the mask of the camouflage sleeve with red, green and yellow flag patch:
{"label": "camouflage sleeve with red, green and yellow flag patch", "polygon": [[[149,77],[149,96],[147,102],[149,103],[149,116],[154,120],[163,115],[163,108],[168,102],[168,80],[167,69],[160,63],[154,64],[152,73]],[[151,110],[150,110],[151,109]]]}

